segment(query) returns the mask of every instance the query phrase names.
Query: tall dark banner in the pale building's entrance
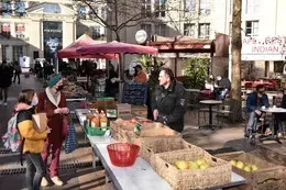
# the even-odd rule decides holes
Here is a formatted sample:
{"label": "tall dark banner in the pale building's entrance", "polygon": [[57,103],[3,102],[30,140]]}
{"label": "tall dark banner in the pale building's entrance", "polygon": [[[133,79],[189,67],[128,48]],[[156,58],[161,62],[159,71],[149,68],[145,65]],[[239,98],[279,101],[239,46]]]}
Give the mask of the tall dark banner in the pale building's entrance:
{"label": "tall dark banner in the pale building's entrance", "polygon": [[63,23],[43,22],[44,33],[44,57],[47,62],[54,63],[55,54],[63,48]]}

